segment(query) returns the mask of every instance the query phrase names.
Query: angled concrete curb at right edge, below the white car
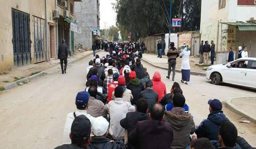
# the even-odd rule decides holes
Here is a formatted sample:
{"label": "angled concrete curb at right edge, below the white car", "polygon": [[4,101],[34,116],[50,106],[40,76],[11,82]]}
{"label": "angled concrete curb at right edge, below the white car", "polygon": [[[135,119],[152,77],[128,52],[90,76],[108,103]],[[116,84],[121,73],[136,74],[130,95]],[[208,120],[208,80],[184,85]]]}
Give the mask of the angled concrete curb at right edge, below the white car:
{"label": "angled concrete curb at right edge, below the white car", "polygon": [[[239,97],[239,98],[244,98],[244,97]],[[256,123],[256,119],[254,117],[251,117],[247,112],[239,110],[239,108],[237,106],[235,106],[233,103],[231,103],[232,100],[239,99],[239,98],[233,98],[231,100],[223,101],[222,103],[225,104],[225,107],[227,109],[230,109],[231,111],[235,112],[236,114],[245,117],[247,120],[250,120],[251,123]],[[255,98],[255,97],[246,97],[246,98]]]}

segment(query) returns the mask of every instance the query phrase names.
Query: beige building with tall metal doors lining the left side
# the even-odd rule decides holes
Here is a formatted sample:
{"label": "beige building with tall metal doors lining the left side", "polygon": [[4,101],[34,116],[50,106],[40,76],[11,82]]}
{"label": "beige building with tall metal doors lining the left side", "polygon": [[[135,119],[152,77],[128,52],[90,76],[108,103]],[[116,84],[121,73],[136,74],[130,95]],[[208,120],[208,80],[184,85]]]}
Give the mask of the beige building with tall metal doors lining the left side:
{"label": "beige building with tall metal doors lining the left side", "polygon": [[[3,0],[2,0],[3,1]],[[0,73],[17,66],[55,58],[57,39],[73,20],[74,1],[81,0],[9,0],[0,5]],[[64,11],[72,12],[70,16]],[[56,13],[58,11],[58,13]],[[60,14],[56,17],[56,14]],[[67,14],[67,13],[66,13]],[[59,24],[64,27],[58,29]],[[64,22],[65,23],[64,25]],[[70,29],[68,27],[68,32]],[[68,42],[71,39],[69,33]],[[69,44],[71,47],[71,45]]]}

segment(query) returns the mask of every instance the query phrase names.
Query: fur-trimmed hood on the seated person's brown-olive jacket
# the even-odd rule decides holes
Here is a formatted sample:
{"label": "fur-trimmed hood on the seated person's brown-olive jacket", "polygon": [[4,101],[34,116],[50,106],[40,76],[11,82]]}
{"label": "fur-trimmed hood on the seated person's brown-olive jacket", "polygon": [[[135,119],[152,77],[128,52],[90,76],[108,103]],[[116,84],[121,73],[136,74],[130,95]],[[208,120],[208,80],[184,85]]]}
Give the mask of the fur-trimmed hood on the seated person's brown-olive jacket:
{"label": "fur-trimmed hood on the seated person's brown-olive jacket", "polygon": [[174,107],[171,111],[165,111],[169,123],[175,130],[183,129],[189,123],[193,116],[189,113],[186,114],[185,110],[180,107]]}

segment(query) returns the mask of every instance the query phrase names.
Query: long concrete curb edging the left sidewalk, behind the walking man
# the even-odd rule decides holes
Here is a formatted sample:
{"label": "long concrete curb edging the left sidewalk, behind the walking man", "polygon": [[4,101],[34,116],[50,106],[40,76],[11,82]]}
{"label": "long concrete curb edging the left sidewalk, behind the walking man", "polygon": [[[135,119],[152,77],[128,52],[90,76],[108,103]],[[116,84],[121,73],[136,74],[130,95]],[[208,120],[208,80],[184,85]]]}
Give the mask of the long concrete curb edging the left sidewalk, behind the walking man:
{"label": "long concrete curb edging the left sidewalk, behind the walking man", "polygon": [[[100,50],[96,51],[96,53],[97,53],[97,52],[100,52]],[[79,58],[77,58],[77,59],[75,59],[75,60],[71,60],[71,61],[67,62],[67,65],[68,65],[68,64],[72,64],[72,63],[76,63],[76,62],[78,62],[78,61],[84,59],[85,57],[89,56],[89,55],[92,54],[92,53],[93,53],[93,52],[90,52],[90,53],[85,54],[84,56],[79,57]],[[30,81],[32,81],[32,80],[35,80],[35,79],[38,78],[38,77],[42,77],[42,76],[46,75],[48,70],[54,69],[54,68],[57,68],[57,67],[59,67],[59,66],[54,66],[54,67],[49,68],[49,69],[46,69],[46,70],[44,70],[44,71],[42,71],[42,72],[40,72],[40,73],[38,73],[38,74],[34,74],[34,75],[32,75],[32,76],[25,77],[25,78],[23,78],[23,79],[17,80],[17,81],[12,82],[12,83],[8,83],[8,84],[6,84],[6,85],[3,85],[3,88],[4,88],[5,90],[8,90],[8,89],[12,89],[12,88],[14,88],[14,87],[16,87],[16,86],[23,85],[23,84],[28,83],[28,82],[30,82]]]}

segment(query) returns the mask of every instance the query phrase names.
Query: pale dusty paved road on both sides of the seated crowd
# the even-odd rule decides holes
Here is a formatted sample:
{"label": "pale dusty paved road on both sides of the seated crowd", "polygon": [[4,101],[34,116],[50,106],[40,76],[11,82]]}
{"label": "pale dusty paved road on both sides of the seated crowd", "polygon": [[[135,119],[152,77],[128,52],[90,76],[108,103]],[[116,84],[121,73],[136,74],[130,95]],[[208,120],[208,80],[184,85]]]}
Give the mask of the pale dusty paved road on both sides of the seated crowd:
{"label": "pale dusty paved road on both sides of the seated crowd", "polygon": [[[106,54],[99,52],[100,56]],[[0,148],[2,149],[50,149],[62,142],[62,132],[67,113],[76,109],[76,93],[83,91],[86,82],[86,67],[93,57],[87,57],[67,69],[67,74],[52,73],[31,83],[11,89],[0,95]],[[155,71],[162,74],[169,91],[172,81],[165,78],[166,71],[143,63],[151,77]],[[176,74],[176,81],[180,80]],[[196,124],[208,115],[207,100],[218,98],[255,96],[255,92],[230,86],[214,86],[204,77],[191,76],[189,85],[181,84],[186,103]],[[204,95],[204,96],[203,96]],[[236,120],[236,116],[230,120]],[[250,143],[256,145],[255,125],[235,123],[243,129]],[[253,132],[254,128],[254,132]],[[239,134],[240,135],[240,134]]]}

